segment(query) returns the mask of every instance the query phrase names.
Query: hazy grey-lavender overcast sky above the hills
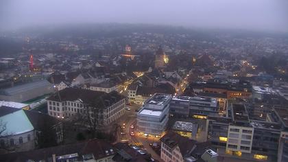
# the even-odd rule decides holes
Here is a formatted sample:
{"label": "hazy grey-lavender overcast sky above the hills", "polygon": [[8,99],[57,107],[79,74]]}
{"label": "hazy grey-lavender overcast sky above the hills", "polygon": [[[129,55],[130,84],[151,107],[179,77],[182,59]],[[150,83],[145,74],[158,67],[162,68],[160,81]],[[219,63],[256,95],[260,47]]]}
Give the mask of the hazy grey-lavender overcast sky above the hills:
{"label": "hazy grey-lavender overcast sky above the hills", "polygon": [[66,23],[288,32],[288,0],[0,0],[0,30]]}

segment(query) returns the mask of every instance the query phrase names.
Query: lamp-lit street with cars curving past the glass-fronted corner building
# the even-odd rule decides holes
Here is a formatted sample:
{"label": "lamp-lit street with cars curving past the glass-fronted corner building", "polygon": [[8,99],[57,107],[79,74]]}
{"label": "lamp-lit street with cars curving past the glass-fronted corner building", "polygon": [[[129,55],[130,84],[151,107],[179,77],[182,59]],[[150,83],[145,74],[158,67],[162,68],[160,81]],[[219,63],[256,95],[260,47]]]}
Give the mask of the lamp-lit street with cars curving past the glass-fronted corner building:
{"label": "lamp-lit street with cars curving past the glass-fronted corner building", "polygon": [[[127,105],[128,107],[129,105]],[[139,135],[139,132],[136,131],[136,111],[139,109],[141,105],[132,104],[129,106],[130,111],[126,110],[125,115],[121,117],[117,124],[121,126],[121,128],[117,131],[117,142],[128,142],[131,145],[141,146],[143,150],[145,150],[148,154],[152,155],[153,159],[158,161],[162,161],[160,156],[156,154],[156,152],[150,147],[150,143],[154,141],[158,141],[159,139],[153,137],[142,137]],[[134,126],[134,128],[130,128],[130,126]],[[130,132],[134,132],[134,136],[130,135]]]}

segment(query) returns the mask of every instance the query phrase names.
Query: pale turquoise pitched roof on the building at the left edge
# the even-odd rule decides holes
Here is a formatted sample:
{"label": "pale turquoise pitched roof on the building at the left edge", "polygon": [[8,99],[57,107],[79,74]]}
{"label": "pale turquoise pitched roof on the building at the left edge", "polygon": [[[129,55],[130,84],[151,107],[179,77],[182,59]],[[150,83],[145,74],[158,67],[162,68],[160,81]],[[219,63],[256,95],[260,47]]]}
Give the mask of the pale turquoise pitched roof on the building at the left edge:
{"label": "pale turquoise pitched roof on the building at the left edge", "polygon": [[1,136],[18,135],[34,130],[32,123],[23,110],[4,115],[0,117],[0,121],[5,124],[6,127],[1,133]]}

